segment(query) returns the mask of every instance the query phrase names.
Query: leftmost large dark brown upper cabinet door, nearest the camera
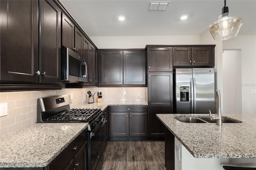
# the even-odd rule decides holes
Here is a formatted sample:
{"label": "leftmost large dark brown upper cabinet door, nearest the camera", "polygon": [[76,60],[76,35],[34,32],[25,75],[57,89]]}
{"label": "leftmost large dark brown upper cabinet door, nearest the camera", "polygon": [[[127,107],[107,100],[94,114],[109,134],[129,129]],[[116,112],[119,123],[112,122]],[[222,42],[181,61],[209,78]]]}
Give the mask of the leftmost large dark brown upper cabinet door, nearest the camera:
{"label": "leftmost large dark brown upper cabinet door, nearest the camera", "polygon": [[0,16],[0,83],[38,83],[38,1],[1,0]]}

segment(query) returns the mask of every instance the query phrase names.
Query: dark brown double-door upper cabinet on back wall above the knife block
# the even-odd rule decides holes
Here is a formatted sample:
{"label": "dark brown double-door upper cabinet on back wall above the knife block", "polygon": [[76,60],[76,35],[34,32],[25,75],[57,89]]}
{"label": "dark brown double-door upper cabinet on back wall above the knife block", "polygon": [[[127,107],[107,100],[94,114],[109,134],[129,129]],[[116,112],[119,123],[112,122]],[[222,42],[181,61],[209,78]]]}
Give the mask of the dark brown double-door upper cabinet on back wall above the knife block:
{"label": "dark brown double-door upper cabinet on back wall above the knife block", "polygon": [[145,50],[100,51],[100,85],[145,86]]}

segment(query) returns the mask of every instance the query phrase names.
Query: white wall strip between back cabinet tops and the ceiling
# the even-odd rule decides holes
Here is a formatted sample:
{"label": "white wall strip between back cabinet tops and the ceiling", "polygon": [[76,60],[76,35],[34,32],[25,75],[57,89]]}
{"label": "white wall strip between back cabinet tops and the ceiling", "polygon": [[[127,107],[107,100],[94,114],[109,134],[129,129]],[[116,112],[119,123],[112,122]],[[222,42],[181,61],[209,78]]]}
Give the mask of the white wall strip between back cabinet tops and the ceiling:
{"label": "white wall strip between back cabinet tops and the ceiling", "polygon": [[90,37],[98,49],[145,48],[146,45],[195,45],[201,36],[99,36]]}

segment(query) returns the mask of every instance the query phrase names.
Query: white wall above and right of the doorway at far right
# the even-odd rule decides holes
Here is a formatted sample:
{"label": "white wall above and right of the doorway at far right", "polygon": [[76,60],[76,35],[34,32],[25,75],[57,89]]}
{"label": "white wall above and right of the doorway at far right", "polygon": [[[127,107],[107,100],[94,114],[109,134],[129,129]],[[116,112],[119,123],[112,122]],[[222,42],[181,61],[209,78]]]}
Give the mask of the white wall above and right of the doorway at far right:
{"label": "white wall above and right of the doorway at far right", "polygon": [[250,94],[256,90],[256,36],[238,35],[224,41],[223,49],[241,50],[242,113],[256,113],[256,95]]}

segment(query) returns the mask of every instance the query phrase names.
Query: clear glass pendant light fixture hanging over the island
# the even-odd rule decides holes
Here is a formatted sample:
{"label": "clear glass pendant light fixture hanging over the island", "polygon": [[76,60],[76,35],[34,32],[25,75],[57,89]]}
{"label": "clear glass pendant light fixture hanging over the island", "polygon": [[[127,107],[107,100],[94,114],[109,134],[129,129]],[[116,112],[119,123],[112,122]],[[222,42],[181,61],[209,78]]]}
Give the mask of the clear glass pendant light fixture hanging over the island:
{"label": "clear glass pendant light fixture hanging over the island", "polygon": [[229,16],[226,0],[224,0],[224,7],[219,20],[210,25],[209,31],[214,40],[228,40],[237,36],[242,24],[242,18]]}

